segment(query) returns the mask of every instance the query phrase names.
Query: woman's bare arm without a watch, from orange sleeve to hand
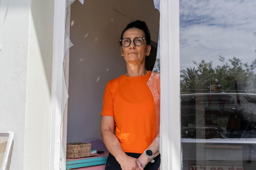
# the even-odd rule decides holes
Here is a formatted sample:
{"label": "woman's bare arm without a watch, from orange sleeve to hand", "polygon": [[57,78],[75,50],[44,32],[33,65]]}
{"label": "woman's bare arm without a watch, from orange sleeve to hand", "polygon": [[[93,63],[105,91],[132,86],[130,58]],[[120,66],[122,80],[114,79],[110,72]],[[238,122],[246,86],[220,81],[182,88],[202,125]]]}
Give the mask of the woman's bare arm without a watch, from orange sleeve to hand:
{"label": "woman's bare arm without a watch, from orange sleeve to hand", "polygon": [[[112,116],[101,116],[101,138],[108,151],[116,158],[122,170],[143,170],[141,163],[136,158],[124,153],[119,140],[114,135],[115,120]],[[147,158],[147,157],[146,157]]]}

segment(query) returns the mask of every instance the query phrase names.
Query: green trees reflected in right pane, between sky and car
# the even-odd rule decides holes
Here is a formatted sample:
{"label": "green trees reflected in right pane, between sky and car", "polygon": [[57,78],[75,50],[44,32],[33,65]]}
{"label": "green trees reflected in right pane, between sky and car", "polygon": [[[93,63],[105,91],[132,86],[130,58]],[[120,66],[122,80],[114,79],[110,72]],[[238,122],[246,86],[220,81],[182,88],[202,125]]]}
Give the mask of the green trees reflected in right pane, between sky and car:
{"label": "green trees reflected in right pane, between sky and car", "polygon": [[196,67],[181,71],[181,94],[188,93],[255,93],[256,59],[251,65],[242,63],[241,59],[229,59],[219,56],[222,66],[212,68],[212,61],[200,63],[193,61]]}

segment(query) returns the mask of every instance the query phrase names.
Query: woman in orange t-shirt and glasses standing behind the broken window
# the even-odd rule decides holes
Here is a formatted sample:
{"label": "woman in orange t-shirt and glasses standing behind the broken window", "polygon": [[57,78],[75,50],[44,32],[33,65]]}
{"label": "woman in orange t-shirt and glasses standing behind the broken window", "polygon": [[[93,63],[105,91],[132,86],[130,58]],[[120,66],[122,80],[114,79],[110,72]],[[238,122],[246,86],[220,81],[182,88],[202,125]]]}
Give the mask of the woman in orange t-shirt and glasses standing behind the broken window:
{"label": "woman in orange t-shirt and glasses standing behind the broken window", "polygon": [[156,106],[145,68],[151,38],[145,22],[127,25],[120,38],[127,73],[109,81],[101,112],[102,140],[110,154],[105,170],[157,170]]}

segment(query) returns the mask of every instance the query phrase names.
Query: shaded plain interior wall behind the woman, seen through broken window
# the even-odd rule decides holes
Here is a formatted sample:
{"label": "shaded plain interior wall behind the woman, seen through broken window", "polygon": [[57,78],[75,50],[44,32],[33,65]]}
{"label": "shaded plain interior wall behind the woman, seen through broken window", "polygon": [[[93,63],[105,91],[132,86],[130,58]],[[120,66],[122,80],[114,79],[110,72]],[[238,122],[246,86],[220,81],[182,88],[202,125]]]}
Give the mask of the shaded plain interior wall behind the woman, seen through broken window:
{"label": "shaded plain interior wall behind the woman, seen through broken window", "polygon": [[145,21],[151,39],[157,42],[159,16],[153,0],[84,1],[83,5],[75,1],[71,5],[70,40],[74,46],[69,49],[67,142],[101,138],[105,85],[126,73],[119,47],[121,32],[128,24],[124,21]]}

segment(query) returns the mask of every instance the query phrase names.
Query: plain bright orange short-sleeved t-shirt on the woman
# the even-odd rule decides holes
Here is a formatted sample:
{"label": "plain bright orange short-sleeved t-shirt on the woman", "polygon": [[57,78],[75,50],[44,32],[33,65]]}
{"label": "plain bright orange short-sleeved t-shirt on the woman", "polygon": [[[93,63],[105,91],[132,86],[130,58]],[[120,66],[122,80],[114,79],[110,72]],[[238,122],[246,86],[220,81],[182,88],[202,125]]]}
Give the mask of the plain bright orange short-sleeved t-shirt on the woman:
{"label": "plain bright orange short-sleeved t-shirt on the woman", "polygon": [[156,107],[147,85],[151,71],[139,77],[110,80],[105,88],[101,116],[113,116],[115,135],[124,152],[143,153],[155,140]]}

